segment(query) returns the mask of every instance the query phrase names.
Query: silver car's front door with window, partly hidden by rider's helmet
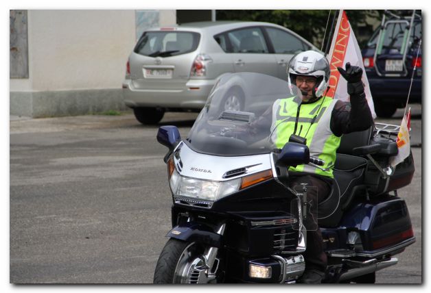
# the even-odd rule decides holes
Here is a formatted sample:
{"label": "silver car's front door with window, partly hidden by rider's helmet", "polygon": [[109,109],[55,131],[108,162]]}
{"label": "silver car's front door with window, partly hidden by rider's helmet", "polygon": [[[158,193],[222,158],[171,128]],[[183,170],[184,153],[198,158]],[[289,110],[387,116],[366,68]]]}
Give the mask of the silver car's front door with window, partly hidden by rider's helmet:
{"label": "silver car's front door with window, partly hidden by rider's helmet", "polygon": [[293,55],[301,51],[310,50],[312,47],[283,29],[277,27],[264,27],[264,29],[274,49],[277,62],[277,77],[287,79],[286,69]]}

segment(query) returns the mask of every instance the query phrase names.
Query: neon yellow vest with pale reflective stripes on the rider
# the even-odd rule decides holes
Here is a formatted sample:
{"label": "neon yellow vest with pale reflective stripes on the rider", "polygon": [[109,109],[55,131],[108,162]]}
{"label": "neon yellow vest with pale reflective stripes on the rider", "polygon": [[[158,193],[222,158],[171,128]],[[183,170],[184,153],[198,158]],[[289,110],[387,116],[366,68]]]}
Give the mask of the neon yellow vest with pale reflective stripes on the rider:
{"label": "neon yellow vest with pale reflective stripes on the rider", "polygon": [[[289,141],[294,132],[296,112],[300,108],[296,135],[307,139],[307,146],[312,157],[318,157],[325,161],[323,171],[310,165],[290,167],[296,172],[313,173],[333,178],[332,169],[336,160],[336,150],[340,145],[340,137],[331,131],[331,114],[337,101],[326,98],[319,99],[315,103],[301,104],[298,98],[279,99],[272,106],[272,141],[281,149]],[[320,110],[319,110],[320,108]],[[316,118],[314,118],[316,117]],[[312,121],[314,120],[314,123]],[[277,128],[277,129],[275,129]],[[275,129],[275,130],[274,130]]]}

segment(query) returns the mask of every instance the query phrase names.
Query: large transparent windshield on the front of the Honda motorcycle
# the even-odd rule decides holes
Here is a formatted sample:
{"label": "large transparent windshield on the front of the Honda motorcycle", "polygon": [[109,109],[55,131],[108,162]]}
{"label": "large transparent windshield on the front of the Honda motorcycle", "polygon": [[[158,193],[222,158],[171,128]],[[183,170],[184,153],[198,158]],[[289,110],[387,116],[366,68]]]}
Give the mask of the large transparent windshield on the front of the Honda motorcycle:
{"label": "large transparent windshield on the front of the Honda motorcycle", "polygon": [[[261,73],[227,73],[211,90],[185,143],[198,153],[258,155],[275,149],[275,101],[300,97],[288,81]],[[274,108],[274,109],[273,109]],[[274,116],[274,117],[273,117]]]}

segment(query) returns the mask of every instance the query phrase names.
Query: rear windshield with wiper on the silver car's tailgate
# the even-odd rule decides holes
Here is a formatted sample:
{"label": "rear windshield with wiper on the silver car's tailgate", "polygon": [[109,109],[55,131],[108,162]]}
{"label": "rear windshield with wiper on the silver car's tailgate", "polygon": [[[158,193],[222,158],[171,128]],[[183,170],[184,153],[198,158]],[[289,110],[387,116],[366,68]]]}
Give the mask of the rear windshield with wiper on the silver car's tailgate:
{"label": "rear windshield with wiper on the silver car's tailgate", "polygon": [[180,55],[195,51],[200,35],[188,31],[147,31],[135,47],[135,53],[156,57]]}

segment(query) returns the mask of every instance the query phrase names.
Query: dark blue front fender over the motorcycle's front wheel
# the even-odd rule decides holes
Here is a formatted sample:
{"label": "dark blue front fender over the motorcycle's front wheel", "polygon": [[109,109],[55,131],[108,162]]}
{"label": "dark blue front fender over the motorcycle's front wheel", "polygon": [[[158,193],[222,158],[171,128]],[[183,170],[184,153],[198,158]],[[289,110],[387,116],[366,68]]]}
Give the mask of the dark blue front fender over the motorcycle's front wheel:
{"label": "dark blue front fender over the motorcycle's front wheel", "polygon": [[208,244],[217,248],[222,246],[222,235],[213,232],[211,227],[196,222],[186,222],[183,225],[175,226],[166,234],[166,237]]}

